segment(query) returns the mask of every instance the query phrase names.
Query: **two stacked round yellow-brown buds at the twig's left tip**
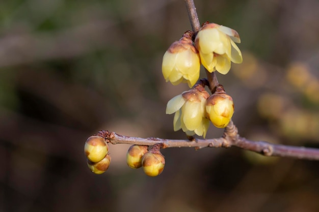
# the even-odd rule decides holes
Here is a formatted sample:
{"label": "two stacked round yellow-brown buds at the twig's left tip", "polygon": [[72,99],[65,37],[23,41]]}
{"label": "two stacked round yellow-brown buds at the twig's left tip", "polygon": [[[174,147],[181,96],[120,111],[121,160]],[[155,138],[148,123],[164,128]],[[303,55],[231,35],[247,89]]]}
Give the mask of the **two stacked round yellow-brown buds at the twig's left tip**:
{"label": "two stacked round yellow-brown buds at the twig's left tip", "polygon": [[87,156],[88,167],[93,173],[102,174],[108,170],[111,156],[104,138],[97,135],[89,137],[84,145],[84,153]]}

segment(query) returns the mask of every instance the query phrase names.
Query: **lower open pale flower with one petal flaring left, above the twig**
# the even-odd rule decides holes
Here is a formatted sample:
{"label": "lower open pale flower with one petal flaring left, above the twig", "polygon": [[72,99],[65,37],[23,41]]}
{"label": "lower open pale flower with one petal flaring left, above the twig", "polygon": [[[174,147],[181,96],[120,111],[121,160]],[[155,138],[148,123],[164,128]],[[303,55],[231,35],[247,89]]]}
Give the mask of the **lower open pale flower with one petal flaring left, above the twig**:
{"label": "lower open pale flower with one petal flaring left, above the twig", "polygon": [[205,137],[209,127],[205,111],[208,97],[204,89],[191,89],[171,99],[167,103],[166,114],[175,112],[174,131],[182,129],[187,135]]}

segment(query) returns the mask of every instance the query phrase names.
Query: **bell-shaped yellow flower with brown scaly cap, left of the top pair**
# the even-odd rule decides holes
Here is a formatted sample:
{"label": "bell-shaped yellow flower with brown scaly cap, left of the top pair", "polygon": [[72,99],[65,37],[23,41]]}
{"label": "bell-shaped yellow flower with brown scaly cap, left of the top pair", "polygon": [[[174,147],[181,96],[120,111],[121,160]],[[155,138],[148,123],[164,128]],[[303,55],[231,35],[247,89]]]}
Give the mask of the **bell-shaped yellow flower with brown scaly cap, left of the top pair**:
{"label": "bell-shaped yellow flower with brown scaly cap, left of the top pair", "polygon": [[187,82],[192,87],[199,78],[200,59],[192,41],[193,33],[187,31],[183,37],[168,48],[163,56],[162,73],[166,82],[173,85]]}

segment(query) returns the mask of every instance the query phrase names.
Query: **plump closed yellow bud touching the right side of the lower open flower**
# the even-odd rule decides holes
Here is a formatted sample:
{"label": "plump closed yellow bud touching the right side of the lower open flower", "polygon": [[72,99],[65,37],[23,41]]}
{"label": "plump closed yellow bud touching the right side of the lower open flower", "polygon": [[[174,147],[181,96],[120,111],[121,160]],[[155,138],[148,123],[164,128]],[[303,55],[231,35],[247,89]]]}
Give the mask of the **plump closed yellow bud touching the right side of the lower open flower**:
{"label": "plump closed yellow bud touching the right side of the lower open flower", "polygon": [[225,92],[216,92],[207,99],[206,112],[207,118],[215,127],[225,128],[234,113],[232,98]]}

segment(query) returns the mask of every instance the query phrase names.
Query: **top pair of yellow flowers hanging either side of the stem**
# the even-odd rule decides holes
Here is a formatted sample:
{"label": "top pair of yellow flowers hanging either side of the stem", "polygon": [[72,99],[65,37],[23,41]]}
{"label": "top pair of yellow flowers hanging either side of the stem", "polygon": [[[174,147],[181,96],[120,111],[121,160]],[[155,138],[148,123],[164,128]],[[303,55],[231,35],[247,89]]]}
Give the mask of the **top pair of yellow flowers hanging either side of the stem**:
{"label": "top pair of yellow flowers hanging either side of the stem", "polygon": [[199,79],[200,64],[210,73],[218,71],[227,74],[230,64],[242,63],[241,50],[236,43],[241,39],[236,31],[216,23],[204,23],[199,30],[195,43],[193,32],[187,31],[183,37],[165,52],[162,72],[165,80],[173,85],[187,82],[194,86]]}

